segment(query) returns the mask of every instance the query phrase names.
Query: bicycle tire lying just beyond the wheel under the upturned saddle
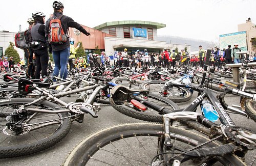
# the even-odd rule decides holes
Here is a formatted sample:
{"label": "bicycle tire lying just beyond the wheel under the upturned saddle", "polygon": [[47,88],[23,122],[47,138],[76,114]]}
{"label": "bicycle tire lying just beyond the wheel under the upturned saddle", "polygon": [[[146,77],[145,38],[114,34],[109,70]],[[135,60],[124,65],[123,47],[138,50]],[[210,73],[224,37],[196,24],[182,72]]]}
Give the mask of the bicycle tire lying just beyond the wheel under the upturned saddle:
{"label": "bicycle tire lying just beyond the wheel under the upturned saddle", "polygon": [[[152,88],[147,88],[146,86],[148,86],[148,85],[151,85],[151,84],[158,84],[158,85],[164,85],[165,84],[165,81],[161,81],[161,80],[159,80],[159,81],[157,81],[157,80],[155,80],[155,81],[145,81],[145,82],[143,82],[141,85],[140,85],[140,88],[141,89],[146,89],[146,90],[150,90],[150,89],[152,89]],[[154,92],[154,94],[156,94],[156,95],[161,95],[161,92],[159,93],[159,88],[161,88],[161,87],[158,87],[158,88],[156,88],[156,89],[152,89],[152,90],[150,90],[150,92],[151,93],[153,93]],[[168,90],[168,92],[169,92],[169,96],[164,96],[164,95],[161,95],[161,97],[164,97],[164,98],[167,98],[167,99],[169,99],[169,100],[172,100],[173,102],[175,102],[175,103],[179,103],[179,102],[186,102],[186,101],[188,101],[188,100],[190,100],[191,99],[191,97],[192,97],[192,93],[189,91],[189,90],[187,90],[186,88],[181,88],[181,87],[173,87],[173,88],[176,88],[177,90],[176,91],[178,91],[179,93],[174,93],[174,95],[172,95],[172,93],[173,92],[176,92],[176,91],[169,91]],[[182,93],[183,95],[181,95],[180,93]]]}

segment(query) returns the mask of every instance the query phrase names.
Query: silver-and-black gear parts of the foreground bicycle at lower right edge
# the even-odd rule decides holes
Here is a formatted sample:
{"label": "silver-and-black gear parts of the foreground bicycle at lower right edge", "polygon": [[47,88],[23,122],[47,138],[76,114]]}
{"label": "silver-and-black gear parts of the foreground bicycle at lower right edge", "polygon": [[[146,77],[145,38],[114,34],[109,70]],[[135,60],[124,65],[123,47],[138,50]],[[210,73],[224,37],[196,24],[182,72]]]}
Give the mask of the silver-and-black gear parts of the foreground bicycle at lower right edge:
{"label": "silver-and-black gear parts of the foreground bicycle at lower right edge", "polygon": [[239,126],[227,126],[226,135],[239,145],[256,149],[256,132]]}

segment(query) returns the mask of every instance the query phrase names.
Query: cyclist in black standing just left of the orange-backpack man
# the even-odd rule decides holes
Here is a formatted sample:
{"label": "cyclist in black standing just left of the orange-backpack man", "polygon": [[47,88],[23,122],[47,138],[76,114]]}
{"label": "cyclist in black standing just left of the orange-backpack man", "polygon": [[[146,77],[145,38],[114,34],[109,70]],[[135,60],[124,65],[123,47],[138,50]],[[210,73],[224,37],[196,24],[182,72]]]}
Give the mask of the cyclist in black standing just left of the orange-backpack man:
{"label": "cyclist in black standing just left of the orange-backpack man", "polygon": [[35,79],[40,79],[40,72],[42,78],[47,76],[49,54],[46,43],[45,17],[46,15],[42,12],[32,13],[32,18],[35,20],[35,24],[31,28],[33,50],[36,59]]}

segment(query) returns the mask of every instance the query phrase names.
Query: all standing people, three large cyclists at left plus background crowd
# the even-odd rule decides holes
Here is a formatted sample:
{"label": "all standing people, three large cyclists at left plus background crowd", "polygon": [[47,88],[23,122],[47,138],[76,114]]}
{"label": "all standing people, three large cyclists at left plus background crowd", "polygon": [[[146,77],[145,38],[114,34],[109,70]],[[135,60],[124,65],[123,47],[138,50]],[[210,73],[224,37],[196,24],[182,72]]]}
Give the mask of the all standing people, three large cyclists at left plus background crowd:
{"label": "all standing people, three large cyclists at left plus background crowd", "polygon": [[[53,16],[46,20],[46,15],[42,12],[32,13],[32,18],[28,19],[29,28],[26,31],[25,58],[27,62],[26,76],[28,78],[39,79],[48,75],[47,69],[49,67],[49,53],[53,54],[54,70],[53,75],[66,79],[69,71],[73,68],[86,68],[90,66],[110,66],[110,57],[104,51],[101,54],[89,53],[87,56],[76,57],[76,50],[79,47],[74,46],[75,40],[68,35],[69,27],[75,27],[83,34],[89,36],[89,32],[75,22],[72,18],[63,15],[64,6],[61,2],[54,1]],[[52,37],[53,24],[59,24],[61,33],[60,38]],[[55,33],[56,34],[56,33]],[[58,34],[58,33],[57,33]],[[56,41],[57,40],[57,41]],[[61,41],[59,41],[61,40]],[[218,46],[212,49],[210,65],[220,67],[221,64],[240,63],[243,57],[237,53],[241,51],[238,44],[228,45],[227,49],[221,52]],[[179,65],[190,66],[204,66],[206,52],[199,46],[198,55],[190,56],[186,50],[181,50],[181,53],[175,50],[168,50],[164,48],[163,52],[147,52],[147,49],[137,50],[134,53],[128,54],[127,49],[124,48],[122,52],[117,53],[115,62],[116,67],[137,67],[147,69],[149,67],[175,68]],[[251,62],[256,62],[256,56],[250,56]],[[24,68],[24,60],[20,62]],[[8,61],[6,58],[0,58],[1,71],[11,70],[14,66],[12,57]],[[51,65],[50,65],[51,66]],[[55,81],[55,80],[54,80]]]}

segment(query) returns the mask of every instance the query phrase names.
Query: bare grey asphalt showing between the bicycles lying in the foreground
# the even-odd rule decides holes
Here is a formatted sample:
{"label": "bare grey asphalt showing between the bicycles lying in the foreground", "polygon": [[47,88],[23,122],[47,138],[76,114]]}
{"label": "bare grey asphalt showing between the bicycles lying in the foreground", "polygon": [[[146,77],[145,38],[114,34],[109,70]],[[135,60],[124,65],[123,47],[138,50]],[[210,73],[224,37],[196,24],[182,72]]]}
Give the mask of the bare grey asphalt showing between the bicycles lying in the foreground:
{"label": "bare grey asphalt showing between the bicycles lying in the foreground", "polygon": [[[178,105],[181,108],[186,107],[191,101],[196,99],[197,92],[194,92],[193,98],[190,101],[185,103],[179,103]],[[63,101],[71,102],[75,101],[76,97],[63,97]],[[238,104],[240,98],[234,95],[227,95],[225,98],[228,104]],[[200,109],[197,109],[197,112],[200,113]],[[81,141],[84,137],[89,136],[90,134],[101,130],[106,127],[123,124],[123,123],[132,123],[132,122],[144,122],[141,120],[133,119],[127,117],[115,110],[111,105],[101,105],[101,110],[98,113],[98,118],[93,118],[90,115],[84,116],[84,122],[82,124],[78,122],[73,122],[71,130],[60,143],[46,149],[45,151],[38,152],[33,155],[16,157],[16,158],[7,158],[0,159],[0,165],[60,165],[65,159],[69,151]],[[244,116],[237,114],[230,114],[230,117],[238,126],[243,126],[248,129],[255,130],[255,122],[251,119],[247,119]],[[255,151],[247,154],[246,162],[250,162],[251,158],[255,155]],[[248,164],[248,163],[247,163]],[[256,164],[256,163],[254,163]]]}

